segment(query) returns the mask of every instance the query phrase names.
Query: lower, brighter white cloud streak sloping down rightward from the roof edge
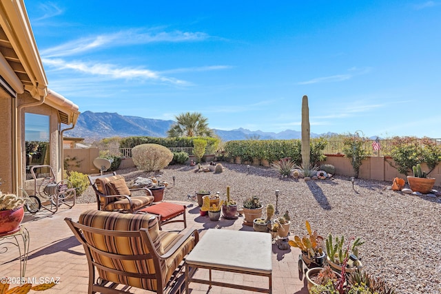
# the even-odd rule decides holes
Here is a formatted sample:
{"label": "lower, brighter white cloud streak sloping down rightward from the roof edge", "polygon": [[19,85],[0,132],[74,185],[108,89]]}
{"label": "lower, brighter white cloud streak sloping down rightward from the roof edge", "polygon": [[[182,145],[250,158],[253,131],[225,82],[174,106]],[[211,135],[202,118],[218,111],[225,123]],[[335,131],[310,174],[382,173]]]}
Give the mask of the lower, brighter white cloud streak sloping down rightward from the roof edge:
{"label": "lower, brighter white cloud streak sloping down rightward from the roof edge", "polygon": [[160,81],[174,85],[188,85],[186,81],[178,80],[167,76],[162,76],[158,72],[142,68],[116,67],[115,65],[105,63],[88,64],[77,61],[64,61],[62,59],[42,59],[45,65],[55,70],[74,70],[85,74],[96,76],[110,76],[111,78],[142,78],[150,81]]}

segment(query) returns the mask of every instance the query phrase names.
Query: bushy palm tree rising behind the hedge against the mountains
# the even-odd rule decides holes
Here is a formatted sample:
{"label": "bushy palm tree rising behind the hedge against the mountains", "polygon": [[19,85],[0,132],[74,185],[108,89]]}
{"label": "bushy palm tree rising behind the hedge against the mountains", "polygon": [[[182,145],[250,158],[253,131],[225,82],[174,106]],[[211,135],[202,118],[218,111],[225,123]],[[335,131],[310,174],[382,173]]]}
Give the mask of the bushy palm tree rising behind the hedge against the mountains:
{"label": "bushy palm tree rising behind the hedge against the mountains", "polygon": [[169,137],[214,136],[213,130],[208,127],[208,118],[199,112],[185,112],[175,118],[176,123],[167,131]]}

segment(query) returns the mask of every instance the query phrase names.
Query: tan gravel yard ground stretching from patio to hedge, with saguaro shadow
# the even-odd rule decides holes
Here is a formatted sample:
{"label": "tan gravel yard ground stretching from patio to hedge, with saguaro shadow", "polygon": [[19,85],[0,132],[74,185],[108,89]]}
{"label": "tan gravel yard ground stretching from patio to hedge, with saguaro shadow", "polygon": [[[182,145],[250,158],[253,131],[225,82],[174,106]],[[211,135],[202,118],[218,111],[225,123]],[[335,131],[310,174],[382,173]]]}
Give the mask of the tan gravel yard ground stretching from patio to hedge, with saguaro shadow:
{"label": "tan gravel yard ground stretching from patio to hedge, with saguaro shadow", "polygon": [[[384,277],[398,293],[441,293],[441,197],[412,196],[388,189],[391,182],[356,179],[354,189],[347,177],[327,180],[279,179],[266,167],[222,163],[222,174],[196,173],[194,167],[174,165],[161,171],[170,183],[165,200],[188,200],[195,191],[219,191],[225,197],[231,187],[239,206],[250,196],[263,204],[288,210],[291,235],[306,234],[305,220],[324,237],[328,233],[361,237],[360,257],[364,268]],[[132,180],[148,177],[143,171],[121,169],[117,174]],[[172,176],[176,177],[173,185]],[[94,202],[92,189],[78,202]]]}

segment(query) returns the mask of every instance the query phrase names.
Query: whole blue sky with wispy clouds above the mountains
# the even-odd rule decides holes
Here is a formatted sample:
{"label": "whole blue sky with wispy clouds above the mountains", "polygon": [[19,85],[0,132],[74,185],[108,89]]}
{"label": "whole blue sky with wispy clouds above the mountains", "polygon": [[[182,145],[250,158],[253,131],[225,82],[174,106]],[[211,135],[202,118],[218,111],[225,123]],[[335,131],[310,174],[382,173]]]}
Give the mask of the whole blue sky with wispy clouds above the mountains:
{"label": "whole blue sky with wispy clouds above the mountains", "polygon": [[80,112],[441,138],[441,1],[25,0],[49,87]]}

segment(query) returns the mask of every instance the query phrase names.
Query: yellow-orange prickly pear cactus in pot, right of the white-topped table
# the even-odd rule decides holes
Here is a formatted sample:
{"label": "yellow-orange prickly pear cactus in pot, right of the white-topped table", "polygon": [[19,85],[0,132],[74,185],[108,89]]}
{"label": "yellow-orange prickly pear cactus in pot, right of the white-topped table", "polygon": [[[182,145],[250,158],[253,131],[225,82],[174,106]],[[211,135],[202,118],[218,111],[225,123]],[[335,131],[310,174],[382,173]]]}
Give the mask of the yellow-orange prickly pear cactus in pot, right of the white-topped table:
{"label": "yellow-orange prickly pear cactus in pot, right of the white-topped table", "polygon": [[289,240],[288,244],[302,251],[302,260],[307,264],[309,269],[313,267],[321,267],[325,263],[326,253],[323,251],[323,240],[317,231],[311,230],[311,225],[306,221],[306,229],[308,235],[300,238],[294,235],[294,240]]}

